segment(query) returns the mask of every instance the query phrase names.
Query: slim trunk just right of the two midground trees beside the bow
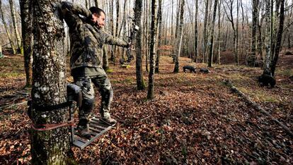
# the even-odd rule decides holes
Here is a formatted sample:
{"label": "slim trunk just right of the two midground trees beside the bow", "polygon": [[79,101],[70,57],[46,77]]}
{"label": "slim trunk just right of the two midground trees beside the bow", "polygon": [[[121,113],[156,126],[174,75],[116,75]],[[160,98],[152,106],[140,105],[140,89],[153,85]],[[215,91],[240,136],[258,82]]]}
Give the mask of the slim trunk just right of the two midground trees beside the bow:
{"label": "slim trunk just right of the two midground trees beside the bow", "polygon": [[156,68],[155,73],[159,73],[159,61],[160,61],[160,47],[161,47],[161,37],[162,37],[162,0],[159,0],[159,9],[158,9],[158,26],[159,26],[159,37],[158,37],[158,49],[156,52]]}

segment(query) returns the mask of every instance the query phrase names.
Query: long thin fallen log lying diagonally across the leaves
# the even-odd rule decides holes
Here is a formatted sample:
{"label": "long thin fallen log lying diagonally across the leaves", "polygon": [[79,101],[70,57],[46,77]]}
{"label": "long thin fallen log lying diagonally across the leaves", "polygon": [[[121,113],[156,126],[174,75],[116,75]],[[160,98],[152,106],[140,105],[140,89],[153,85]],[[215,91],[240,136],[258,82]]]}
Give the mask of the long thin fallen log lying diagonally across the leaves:
{"label": "long thin fallen log lying diagonally across the leaves", "polygon": [[270,113],[268,113],[268,111],[265,111],[265,109],[263,109],[260,105],[256,104],[255,102],[253,102],[251,100],[251,98],[249,98],[248,96],[246,96],[243,92],[241,92],[240,90],[238,90],[230,80],[224,80],[224,84],[229,86],[230,89],[232,90],[232,92],[235,92],[236,94],[239,94],[239,96],[241,96],[243,99],[245,99],[245,102],[250,104],[251,106],[253,106],[254,109],[257,109],[258,111],[260,111],[262,114],[265,114],[266,116],[269,116],[272,121],[275,121],[275,123],[277,123],[279,126],[281,126],[284,130],[287,131],[287,133],[293,137],[293,133],[292,131],[285,126],[285,124],[281,123],[280,121],[278,121],[276,118],[274,118]]}

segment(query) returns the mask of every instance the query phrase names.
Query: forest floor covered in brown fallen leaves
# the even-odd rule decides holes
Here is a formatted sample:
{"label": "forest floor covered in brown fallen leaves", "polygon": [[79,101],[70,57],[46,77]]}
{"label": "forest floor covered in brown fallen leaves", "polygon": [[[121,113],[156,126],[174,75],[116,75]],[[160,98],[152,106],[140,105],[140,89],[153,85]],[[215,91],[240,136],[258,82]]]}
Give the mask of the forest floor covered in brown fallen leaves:
{"label": "forest floor covered in brown fallen leaves", "polygon": [[[293,56],[280,57],[275,88],[258,85],[260,68],[215,65],[208,74],[183,73],[186,64],[206,66],[180,58],[175,74],[172,59],[161,57],[152,100],[146,100],[146,90],[136,90],[134,62],[127,69],[110,66],[117,127],[84,150],[73,147],[75,159],[80,164],[293,164],[292,137],[223,83],[231,80],[293,130]],[[28,164],[30,91],[23,89],[23,57],[0,59],[0,71],[0,164]],[[147,78],[144,73],[146,83]],[[99,106],[96,94],[94,113]]]}

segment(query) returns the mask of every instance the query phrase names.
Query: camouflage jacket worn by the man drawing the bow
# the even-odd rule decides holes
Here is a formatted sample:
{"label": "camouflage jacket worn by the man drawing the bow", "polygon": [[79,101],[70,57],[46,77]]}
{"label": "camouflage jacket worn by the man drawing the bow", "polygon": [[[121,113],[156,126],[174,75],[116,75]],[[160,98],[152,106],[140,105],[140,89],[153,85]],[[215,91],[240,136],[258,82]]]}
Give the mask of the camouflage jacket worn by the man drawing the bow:
{"label": "camouflage jacket worn by the man drawing the bow", "polygon": [[62,1],[62,16],[69,26],[70,68],[102,67],[103,44],[127,47],[127,42],[109,35],[88,21],[91,11],[79,4]]}

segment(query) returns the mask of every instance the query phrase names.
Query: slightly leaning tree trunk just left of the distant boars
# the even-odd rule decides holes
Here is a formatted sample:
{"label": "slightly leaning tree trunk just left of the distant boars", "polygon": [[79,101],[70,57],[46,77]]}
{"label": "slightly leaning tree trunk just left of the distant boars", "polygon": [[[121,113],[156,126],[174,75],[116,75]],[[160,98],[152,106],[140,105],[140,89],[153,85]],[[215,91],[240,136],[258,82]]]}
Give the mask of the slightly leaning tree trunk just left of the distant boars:
{"label": "slightly leaning tree trunk just left of the distant boars", "polygon": [[182,36],[183,36],[183,14],[184,14],[184,4],[185,0],[181,0],[181,7],[180,7],[180,24],[179,27],[176,29],[177,37],[176,37],[176,49],[174,52],[175,54],[175,66],[174,66],[174,73],[179,73],[179,56],[180,56],[180,49],[182,43]]}

